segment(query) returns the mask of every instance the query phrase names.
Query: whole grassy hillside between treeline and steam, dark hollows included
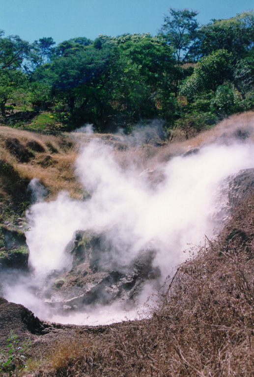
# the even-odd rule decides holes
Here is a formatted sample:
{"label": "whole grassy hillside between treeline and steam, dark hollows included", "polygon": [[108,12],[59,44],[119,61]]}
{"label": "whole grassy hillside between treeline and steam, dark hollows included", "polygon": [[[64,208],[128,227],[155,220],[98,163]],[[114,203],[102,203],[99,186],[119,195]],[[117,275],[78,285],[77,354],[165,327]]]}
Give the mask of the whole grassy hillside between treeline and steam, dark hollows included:
{"label": "whole grassy hillside between treeline and steam, dark hollows included", "polygon": [[[173,130],[167,141],[158,132],[137,133],[134,137],[113,134],[59,133],[58,136],[43,135],[0,127],[0,201],[2,220],[11,216],[24,215],[29,205],[26,192],[28,183],[37,178],[48,190],[47,198],[52,199],[61,190],[67,190],[72,197],[82,198],[82,189],[75,179],[74,162],[81,146],[92,138],[99,137],[104,143],[113,145],[114,153],[122,165],[130,160],[140,170],[152,170],[155,166],[193,148],[215,142],[220,138],[253,138],[252,111],[226,119],[210,131],[202,132],[191,140],[178,129]],[[153,124],[152,124],[153,127]],[[160,129],[160,123],[158,125]],[[155,125],[156,130],[156,125]],[[142,144],[140,146],[140,144]],[[158,148],[158,146],[160,148]],[[9,208],[8,208],[9,206]],[[6,217],[7,216],[7,217]]]}

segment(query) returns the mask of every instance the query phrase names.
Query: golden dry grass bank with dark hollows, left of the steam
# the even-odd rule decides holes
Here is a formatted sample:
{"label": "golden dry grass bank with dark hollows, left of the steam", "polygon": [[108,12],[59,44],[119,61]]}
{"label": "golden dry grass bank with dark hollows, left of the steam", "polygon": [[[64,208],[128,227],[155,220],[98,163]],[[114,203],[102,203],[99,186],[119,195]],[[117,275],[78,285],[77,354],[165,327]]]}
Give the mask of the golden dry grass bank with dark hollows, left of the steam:
{"label": "golden dry grass bank with dark hollows, left of the steam", "polygon": [[27,187],[32,178],[38,178],[48,189],[48,199],[61,190],[81,198],[74,173],[76,157],[77,147],[68,135],[41,135],[0,127],[1,208],[18,211],[22,203],[28,204]]}

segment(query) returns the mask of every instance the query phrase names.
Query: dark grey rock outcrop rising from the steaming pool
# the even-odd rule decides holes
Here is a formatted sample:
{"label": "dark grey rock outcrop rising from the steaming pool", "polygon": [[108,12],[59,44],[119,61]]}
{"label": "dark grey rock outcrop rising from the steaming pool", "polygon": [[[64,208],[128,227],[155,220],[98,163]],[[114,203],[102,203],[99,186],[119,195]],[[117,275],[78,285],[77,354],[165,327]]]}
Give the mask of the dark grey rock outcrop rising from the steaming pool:
{"label": "dark grey rock outcrop rising from the steaming pool", "polygon": [[114,251],[106,234],[77,231],[66,247],[73,255],[72,269],[51,277],[52,285],[45,293],[49,304],[65,312],[116,299],[127,302],[141,292],[146,281],[160,277],[160,269],[153,266],[156,251],[152,247],[125,265],[113,257]]}

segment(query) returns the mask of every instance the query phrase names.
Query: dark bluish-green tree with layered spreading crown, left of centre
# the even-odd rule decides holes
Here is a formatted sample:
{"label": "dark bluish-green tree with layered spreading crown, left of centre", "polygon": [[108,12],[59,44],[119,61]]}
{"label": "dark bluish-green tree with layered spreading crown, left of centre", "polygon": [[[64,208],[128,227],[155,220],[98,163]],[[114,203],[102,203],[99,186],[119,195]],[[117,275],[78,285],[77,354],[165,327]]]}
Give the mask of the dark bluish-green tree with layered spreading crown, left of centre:
{"label": "dark bluish-green tree with layered spreading crown, left of centre", "polygon": [[63,112],[61,109],[67,106],[67,119],[73,123],[94,118],[97,111],[95,103],[98,97],[101,98],[98,92],[103,93],[105,81],[109,80],[106,72],[111,56],[110,43],[105,42],[103,48],[97,49],[85,40],[81,42],[70,40],[61,43],[56,47],[52,62],[38,67],[33,75],[34,80],[51,86],[58,111]]}

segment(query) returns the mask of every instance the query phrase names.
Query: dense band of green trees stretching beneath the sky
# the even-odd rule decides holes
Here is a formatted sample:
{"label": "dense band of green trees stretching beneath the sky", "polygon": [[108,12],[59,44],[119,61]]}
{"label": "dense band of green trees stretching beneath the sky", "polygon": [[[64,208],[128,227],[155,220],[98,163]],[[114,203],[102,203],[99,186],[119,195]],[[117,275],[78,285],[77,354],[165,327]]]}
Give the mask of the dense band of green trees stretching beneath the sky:
{"label": "dense band of green trees stretching beneath the sky", "polygon": [[156,36],[100,35],[57,46],[0,33],[0,111],[51,112],[71,130],[129,132],[160,117],[165,127],[200,130],[254,107],[254,11],[199,26],[197,12],[169,10]]}

